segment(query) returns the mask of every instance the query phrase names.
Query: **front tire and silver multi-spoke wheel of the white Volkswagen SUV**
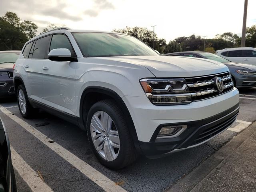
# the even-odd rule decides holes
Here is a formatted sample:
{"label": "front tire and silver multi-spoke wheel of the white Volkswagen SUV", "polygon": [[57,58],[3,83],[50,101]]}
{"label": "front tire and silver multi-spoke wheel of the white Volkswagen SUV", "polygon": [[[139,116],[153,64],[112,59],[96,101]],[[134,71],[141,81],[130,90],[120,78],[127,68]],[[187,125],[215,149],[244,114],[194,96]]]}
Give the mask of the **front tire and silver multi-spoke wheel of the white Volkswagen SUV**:
{"label": "front tire and silver multi-spoke wheel of the white Volkswagen SUV", "polygon": [[88,112],[86,127],[92,151],[104,166],[117,170],[136,160],[138,153],[124,114],[113,100],[96,102]]}

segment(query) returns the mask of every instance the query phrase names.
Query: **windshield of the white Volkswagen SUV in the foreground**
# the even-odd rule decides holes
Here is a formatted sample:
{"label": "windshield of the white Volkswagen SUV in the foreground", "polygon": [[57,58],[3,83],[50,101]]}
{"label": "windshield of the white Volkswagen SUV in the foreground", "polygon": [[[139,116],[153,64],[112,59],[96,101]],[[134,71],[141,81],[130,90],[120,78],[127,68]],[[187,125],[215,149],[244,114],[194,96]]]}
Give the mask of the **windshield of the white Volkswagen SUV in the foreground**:
{"label": "windshield of the white Volkswagen SUV in the foreground", "polygon": [[122,34],[72,33],[84,57],[158,55],[140,40]]}

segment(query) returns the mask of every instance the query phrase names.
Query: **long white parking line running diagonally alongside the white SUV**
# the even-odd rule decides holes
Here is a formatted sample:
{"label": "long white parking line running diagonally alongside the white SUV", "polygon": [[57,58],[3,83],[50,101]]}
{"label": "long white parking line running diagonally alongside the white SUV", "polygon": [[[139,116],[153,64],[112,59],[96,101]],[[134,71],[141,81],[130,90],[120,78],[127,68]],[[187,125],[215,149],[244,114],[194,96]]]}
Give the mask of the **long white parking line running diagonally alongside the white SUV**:
{"label": "long white parking line running diagonally alongside the white SUV", "polygon": [[[102,173],[100,173],[98,170],[94,169],[92,166],[57,144],[49,143],[51,139],[48,138],[46,135],[42,134],[40,131],[36,130],[34,127],[32,127],[30,124],[26,123],[24,120],[18,118],[16,115],[12,115],[12,112],[7,110],[6,108],[3,108],[0,105],[0,110],[6,114],[9,118],[17,122],[20,126],[22,126],[24,129],[26,129],[28,132],[30,132],[33,136],[35,136],[38,140],[43,142],[46,146],[48,146],[51,150],[56,152],[59,156],[64,158],[67,162],[72,164],[75,168],[80,170],[85,176],[90,178],[93,182],[95,182],[98,186],[103,188],[106,192],[126,192],[121,186],[117,185],[114,181],[110,180],[106,176],[104,176]],[[86,186],[85,186],[86,188]]]}

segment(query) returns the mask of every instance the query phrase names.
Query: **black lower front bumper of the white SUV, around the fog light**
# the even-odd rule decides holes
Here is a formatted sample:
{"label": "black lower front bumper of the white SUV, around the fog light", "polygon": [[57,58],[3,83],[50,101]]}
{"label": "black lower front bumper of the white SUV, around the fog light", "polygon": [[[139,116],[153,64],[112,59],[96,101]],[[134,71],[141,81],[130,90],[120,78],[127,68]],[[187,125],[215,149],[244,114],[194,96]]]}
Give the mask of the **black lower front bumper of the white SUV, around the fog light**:
{"label": "black lower front bumper of the white SUV, around the fog light", "polygon": [[[196,147],[228,129],[234,122],[239,112],[239,105],[210,118],[193,122],[175,124],[162,124],[158,126],[150,142],[139,142],[142,153],[149,158],[158,158],[172,152],[178,152]],[[176,138],[156,138],[163,126],[177,126],[186,124],[188,128]]]}

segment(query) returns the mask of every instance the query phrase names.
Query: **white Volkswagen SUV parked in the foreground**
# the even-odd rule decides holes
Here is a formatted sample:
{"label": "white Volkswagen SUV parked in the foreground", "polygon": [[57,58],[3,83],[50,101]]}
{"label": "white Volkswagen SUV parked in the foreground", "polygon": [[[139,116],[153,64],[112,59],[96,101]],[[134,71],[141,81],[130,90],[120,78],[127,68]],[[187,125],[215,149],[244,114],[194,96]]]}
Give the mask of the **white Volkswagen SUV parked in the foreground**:
{"label": "white Volkswagen SUV parked in the foreground", "polygon": [[58,29],[28,41],[14,67],[20,113],[77,124],[105,166],[198,146],[236,121],[239,92],[212,60],[160,56],[132,36]]}

